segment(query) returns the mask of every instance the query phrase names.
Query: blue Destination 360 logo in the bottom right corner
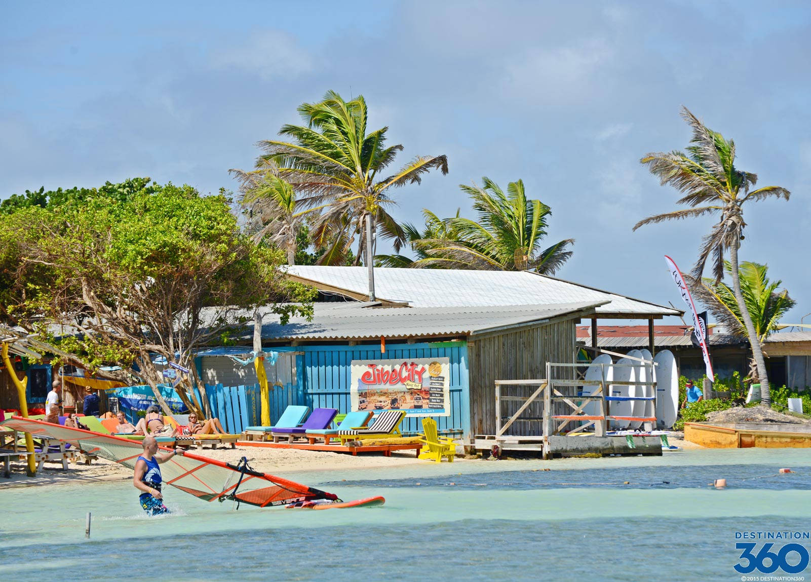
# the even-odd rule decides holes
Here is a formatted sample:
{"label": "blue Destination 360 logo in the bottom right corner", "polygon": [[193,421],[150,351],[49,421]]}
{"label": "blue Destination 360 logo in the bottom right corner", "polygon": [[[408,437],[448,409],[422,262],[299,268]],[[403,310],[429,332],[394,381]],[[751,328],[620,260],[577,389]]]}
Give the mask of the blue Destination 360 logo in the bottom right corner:
{"label": "blue Destination 360 logo in the bottom right corner", "polygon": [[[809,532],[736,532],[735,548],[740,551],[734,566],[739,574],[800,574],[809,566],[809,549],[803,543]],[[805,543],[808,543],[807,541]],[[742,582],[755,580],[805,580],[805,576],[740,576]]]}

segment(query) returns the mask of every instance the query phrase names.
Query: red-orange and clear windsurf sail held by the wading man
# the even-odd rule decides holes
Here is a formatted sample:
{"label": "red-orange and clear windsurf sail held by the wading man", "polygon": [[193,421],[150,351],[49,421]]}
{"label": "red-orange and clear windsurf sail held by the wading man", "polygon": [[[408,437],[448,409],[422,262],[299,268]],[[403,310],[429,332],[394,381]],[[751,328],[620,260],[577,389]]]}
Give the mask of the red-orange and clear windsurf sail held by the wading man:
{"label": "red-orange and clear windsurf sail held by the wading man", "polygon": [[[140,441],[122,439],[92,430],[67,428],[30,418],[11,417],[0,424],[37,436],[58,439],[62,443],[74,444],[89,455],[113,460],[130,469],[135,469],[135,461],[144,451]],[[170,450],[161,448],[165,451]],[[161,477],[165,484],[177,487],[204,501],[232,499],[258,507],[272,507],[315,499],[337,499],[336,495],[326,491],[255,471],[247,466],[247,462],[234,465],[192,453],[175,455],[162,463]]]}

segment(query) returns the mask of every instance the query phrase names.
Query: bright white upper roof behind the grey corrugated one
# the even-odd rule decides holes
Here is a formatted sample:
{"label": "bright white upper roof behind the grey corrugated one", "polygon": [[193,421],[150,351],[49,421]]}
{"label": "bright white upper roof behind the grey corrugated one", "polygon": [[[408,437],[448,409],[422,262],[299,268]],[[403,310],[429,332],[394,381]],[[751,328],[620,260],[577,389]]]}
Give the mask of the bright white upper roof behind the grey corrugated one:
{"label": "bright white upper roof behind the grey corrugated one", "polygon": [[[368,290],[366,267],[285,267],[290,275],[354,294]],[[375,295],[413,307],[558,305],[604,302],[598,314],[679,315],[680,311],[526,271],[375,268]]]}

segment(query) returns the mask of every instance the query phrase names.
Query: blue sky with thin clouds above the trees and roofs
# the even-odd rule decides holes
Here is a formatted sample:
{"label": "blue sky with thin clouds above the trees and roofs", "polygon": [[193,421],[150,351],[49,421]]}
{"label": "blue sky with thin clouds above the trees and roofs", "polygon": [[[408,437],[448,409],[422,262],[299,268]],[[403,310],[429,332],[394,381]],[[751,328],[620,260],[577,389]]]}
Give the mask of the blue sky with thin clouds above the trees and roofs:
{"label": "blue sky with thin clouds above the trees and roofs", "polygon": [[740,259],[783,280],[784,322],[811,312],[807,2],[2,5],[0,198],[135,176],[237,190],[228,170],[332,89],[366,98],[401,163],[448,156],[394,192],[398,219],[473,217],[459,184],[521,178],[549,244],[576,239],[557,276],[683,309],[663,255],[689,271],[714,219],[632,227],[676,208],[639,159],[688,144],[684,105],[792,191],[744,208]]}

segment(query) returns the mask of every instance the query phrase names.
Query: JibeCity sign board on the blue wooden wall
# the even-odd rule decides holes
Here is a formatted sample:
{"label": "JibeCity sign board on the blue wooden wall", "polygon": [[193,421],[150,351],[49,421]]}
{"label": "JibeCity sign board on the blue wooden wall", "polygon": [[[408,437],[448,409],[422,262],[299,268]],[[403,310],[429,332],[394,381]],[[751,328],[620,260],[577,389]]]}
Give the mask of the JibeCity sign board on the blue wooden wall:
{"label": "JibeCity sign board on the blue wooden wall", "polygon": [[405,410],[410,417],[447,417],[450,358],[353,360],[353,410]]}

